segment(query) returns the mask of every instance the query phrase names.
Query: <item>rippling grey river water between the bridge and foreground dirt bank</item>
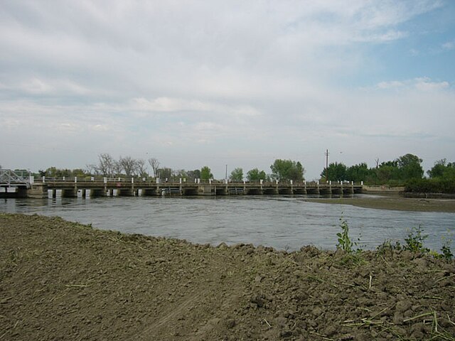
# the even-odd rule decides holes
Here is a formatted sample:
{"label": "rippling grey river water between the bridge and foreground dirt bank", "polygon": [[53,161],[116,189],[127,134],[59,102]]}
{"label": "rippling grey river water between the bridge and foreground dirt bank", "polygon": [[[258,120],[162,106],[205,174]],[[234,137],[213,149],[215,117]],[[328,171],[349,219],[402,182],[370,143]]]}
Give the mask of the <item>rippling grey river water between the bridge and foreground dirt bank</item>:
{"label": "rippling grey river water between the bridge and foreground dirt bank", "polygon": [[[334,249],[339,222],[366,249],[403,240],[421,225],[425,245],[439,250],[454,238],[455,213],[373,210],[305,202],[306,197],[97,197],[2,199],[0,212],[60,216],[100,229],[175,237],[196,243],[245,243],[296,250],[308,244]],[[454,242],[451,243],[454,249]]]}

